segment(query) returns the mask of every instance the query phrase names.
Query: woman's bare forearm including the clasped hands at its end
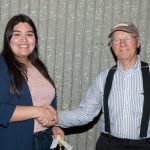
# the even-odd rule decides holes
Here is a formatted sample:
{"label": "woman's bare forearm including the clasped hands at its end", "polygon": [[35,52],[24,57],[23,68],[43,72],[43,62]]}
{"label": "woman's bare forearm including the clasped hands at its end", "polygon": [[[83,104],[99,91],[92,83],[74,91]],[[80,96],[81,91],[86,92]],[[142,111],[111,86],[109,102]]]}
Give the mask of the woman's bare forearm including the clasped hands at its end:
{"label": "woman's bare forearm including the clasped hands at its end", "polygon": [[9,122],[36,119],[42,126],[54,126],[57,122],[57,112],[52,106],[16,106]]}

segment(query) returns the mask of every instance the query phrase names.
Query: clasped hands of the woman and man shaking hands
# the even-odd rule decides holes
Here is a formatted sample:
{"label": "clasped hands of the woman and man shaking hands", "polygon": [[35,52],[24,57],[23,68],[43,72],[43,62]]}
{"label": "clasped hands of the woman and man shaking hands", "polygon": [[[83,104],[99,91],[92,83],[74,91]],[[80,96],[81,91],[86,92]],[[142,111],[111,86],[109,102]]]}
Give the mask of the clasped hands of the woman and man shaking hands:
{"label": "clasped hands of the woman and man shaking hands", "polygon": [[36,106],[35,119],[43,127],[55,126],[58,123],[57,111],[50,105]]}

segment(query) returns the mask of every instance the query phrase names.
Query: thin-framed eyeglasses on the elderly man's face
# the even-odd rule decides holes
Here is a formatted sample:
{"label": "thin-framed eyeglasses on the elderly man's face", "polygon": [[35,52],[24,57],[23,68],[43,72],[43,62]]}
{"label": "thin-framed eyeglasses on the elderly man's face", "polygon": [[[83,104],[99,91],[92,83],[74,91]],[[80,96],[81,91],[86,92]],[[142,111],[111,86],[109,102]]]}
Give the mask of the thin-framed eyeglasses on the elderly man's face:
{"label": "thin-framed eyeglasses on the elderly man's face", "polygon": [[[136,36],[137,37],[137,36]],[[111,43],[113,45],[120,45],[122,42],[125,42],[126,44],[130,44],[131,42],[133,42],[133,39],[136,37],[132,37],[132,36],[127,36],[124,39],[112,39]]]}

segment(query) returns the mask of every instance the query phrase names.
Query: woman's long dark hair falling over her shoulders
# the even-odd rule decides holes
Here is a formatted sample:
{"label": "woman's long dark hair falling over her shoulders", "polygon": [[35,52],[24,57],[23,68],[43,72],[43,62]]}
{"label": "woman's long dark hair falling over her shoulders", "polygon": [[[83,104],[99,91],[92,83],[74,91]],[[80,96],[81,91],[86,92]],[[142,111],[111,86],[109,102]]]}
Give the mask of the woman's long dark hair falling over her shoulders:
{"label": "woman's long dark hair falling over her shoulders", "polygon": [[38,52],[38,36],[37,36],[37,30],[35,27],[34,22],[32,19],[24,14],[19,14],[14,17],[12,17],[9,22],[7,23],[5,33],[4,33],[4,41],[3,41],[3,49],[2,49],[2,56],[4,57],[6,64],[8,65],[8,71],[11,77],[10,81],[10,92],[19,94],[19,90],[22,87],[23,81],[27,79],[27,68],[26,66],[19,62],[16,57],[14,56],[14,53],[10,47],[10,40],[13,35],[13,28],[18,23],[28,23],[32,29],[33,33],[35,35],[36,44],[33,52],[28,56],[29,61],[34,65],[40,73],[54,86],[54,81],[51,79],[51,77],[48,74],[46,66],[43,64],[43,62],[39,58],[39,52]]}

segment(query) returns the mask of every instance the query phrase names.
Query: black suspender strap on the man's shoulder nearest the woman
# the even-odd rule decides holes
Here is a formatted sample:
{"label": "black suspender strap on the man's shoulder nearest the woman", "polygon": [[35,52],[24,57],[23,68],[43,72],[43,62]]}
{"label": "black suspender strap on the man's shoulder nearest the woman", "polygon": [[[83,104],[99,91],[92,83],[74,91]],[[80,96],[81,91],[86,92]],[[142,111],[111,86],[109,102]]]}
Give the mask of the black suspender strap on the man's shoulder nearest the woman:
{"label": "black suspender strap on the man's shoulder nearest the woman", "polygon": [[116,71],[117,65],[110,68],[106,82],[105,82],[105,88],[104,88],[104,118],[105,118],[105,131],[110,133],[110,118],[109,118],[109,110],[108,110],[108,97],[112,86],[112,80],[114,77],[114,73]]}

